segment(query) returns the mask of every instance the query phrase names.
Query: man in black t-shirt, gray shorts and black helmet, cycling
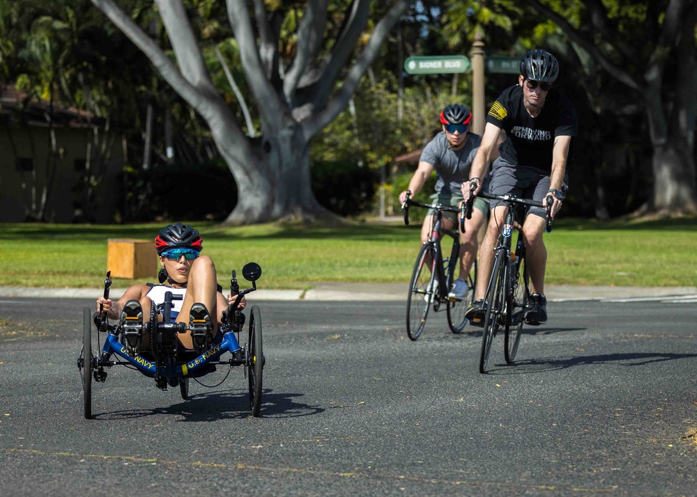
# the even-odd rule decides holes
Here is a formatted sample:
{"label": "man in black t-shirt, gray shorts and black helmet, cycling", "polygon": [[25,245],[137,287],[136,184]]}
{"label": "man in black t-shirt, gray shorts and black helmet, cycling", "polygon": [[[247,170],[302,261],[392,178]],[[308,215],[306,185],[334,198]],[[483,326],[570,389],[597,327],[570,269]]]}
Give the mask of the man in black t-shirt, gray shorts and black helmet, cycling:
{"label": "man in black t-shirt, gray shorts and black helmet, cycling", "polygon": [[[480,191],[489,157],[499,146],[500,157],[493,163],[492,194],[514,194],[541,200],[546,207],[547,194],[553,198],[552,218],[561,208],[567,190],[566,164],[572,136],[576,136],[576,111],[567,97],[552,88],[559,74],[557,59],[544,50],[530,50],[520,63],[518,84],[507,88],[496,99],[487,115],[482,144],[472,164],[470,179],[461,187],[465,199],[470,196],[470,183]],[[545,207],[528,207],[523,223],[526,260],[530,271],[530,308],[528,324],[547,322],[544,297],[544,271],[547,251],[542,240]],[[466,316],[472,324],[484,324],[484,294],[493,265],[493,248],[506,214],[506,205],[491,200],[489,229],[482,242],[478,265],[475,303]]]}

